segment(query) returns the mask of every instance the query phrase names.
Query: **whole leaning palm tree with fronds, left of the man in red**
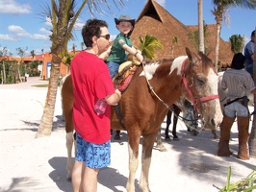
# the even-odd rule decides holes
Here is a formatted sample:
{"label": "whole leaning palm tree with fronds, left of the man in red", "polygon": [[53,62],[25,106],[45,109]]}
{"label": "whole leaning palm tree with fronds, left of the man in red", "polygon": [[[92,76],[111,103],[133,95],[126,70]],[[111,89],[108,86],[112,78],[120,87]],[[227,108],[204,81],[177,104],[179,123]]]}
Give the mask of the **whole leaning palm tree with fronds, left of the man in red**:
{"label": "whole leaning palm tree with fronds, left of the man in red", "polygon": [[[122,0],[118,0],[118,2],[123,5]],[[36,138],[50,135],[52,132],[60,66],[66,55],[67,42],[73,37],[71,33],[75,22],[86,4],[89,5],[90,13],[92,13],[92,8],[101,11],[102,3],[109,5],[107,0],[85,0],[81,1],[81,4],[78,4],[76,0],[51,0],[51,7],[47,5],[43,9],[42,16],[45,17],[46,14],[52,24],[52,35],[50,36],[52,63],[48,91]],[[115,6],[117,5],[115,4]],[[78,9],[75,10],[76,8]]]}

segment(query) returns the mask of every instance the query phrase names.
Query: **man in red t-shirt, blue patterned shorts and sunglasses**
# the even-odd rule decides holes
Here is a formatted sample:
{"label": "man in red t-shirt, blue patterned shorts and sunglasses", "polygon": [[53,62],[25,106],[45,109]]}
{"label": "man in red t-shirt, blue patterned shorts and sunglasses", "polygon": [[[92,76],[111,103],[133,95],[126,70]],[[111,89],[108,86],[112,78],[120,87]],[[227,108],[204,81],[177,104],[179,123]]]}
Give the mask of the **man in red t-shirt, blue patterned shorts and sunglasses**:
{"label": "man in red t-shirt, blue patterned shorts and sunglasses", "polygon": [[[121,98],[108,66],[100,59],[109,53],[107,23],[98,19],[88,20],[82,29],[82,36],[87,49],[71,61],[73,122],[77,132],[77,154],[72,171],[74,192],[97,191],[99,169],[110,165],[111,106],[115,106]],[[105,99],[108,105],[105,113],[98,114],[94,107],[101,99]]]}

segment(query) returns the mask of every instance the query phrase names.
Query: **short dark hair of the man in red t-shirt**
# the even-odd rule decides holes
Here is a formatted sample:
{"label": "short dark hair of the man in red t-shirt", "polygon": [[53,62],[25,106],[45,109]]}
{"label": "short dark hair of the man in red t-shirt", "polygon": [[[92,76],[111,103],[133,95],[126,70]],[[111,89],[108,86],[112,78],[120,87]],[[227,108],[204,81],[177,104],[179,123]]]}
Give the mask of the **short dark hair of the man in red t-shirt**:
{"label": "short dark hair of the man in red t-shirt", "polygon": [[87,47],[92,46],[92,36],[99,37],[101,35],[100,28],[102,27],[108,28],[108,24],[106,21],[99,19],[89,19],[87,21],[86,25],[84,25],[82,29],[82,36],[84,39],[84,43]]}

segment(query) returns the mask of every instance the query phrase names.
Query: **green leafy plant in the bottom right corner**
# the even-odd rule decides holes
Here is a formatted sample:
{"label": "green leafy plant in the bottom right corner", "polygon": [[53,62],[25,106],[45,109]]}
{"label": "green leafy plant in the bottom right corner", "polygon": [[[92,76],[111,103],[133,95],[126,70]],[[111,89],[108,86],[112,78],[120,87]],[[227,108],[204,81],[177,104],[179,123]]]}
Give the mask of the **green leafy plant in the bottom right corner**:
{"label": "green leafy plant in the bottom right corner", "polygon": [[230,191],[252,192],[253,189],[256,189],[256,172],[255,171],[256,171],[256,167],[246,177],[245,180],[238,180],[233,183],[230,183],[231,167],[228,167],[226,185],[219,192],[230,192]]}

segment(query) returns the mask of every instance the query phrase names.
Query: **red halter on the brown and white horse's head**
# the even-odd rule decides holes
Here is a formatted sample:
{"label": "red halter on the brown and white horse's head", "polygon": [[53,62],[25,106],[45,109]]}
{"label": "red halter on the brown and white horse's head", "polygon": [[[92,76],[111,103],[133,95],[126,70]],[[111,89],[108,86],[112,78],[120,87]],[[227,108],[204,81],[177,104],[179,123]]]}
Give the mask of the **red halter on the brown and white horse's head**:
{"label": "red halter on the brown and white horse's head", "polygon": [[[188,59],[186,59],[188,60]],[[206,96],[206,97],[202,97],[202,98],[199,98],[199,99],[195,99],[194,96],[192,95],[192,90],[190,89],[189,85],[188,85],[188,82],[186,80],[186,77],[185,77],[185,62],[186,60],[184,60],[182,62],[182,66],[181,66],[181,83],[183,82],[186,90],[188,91],[190,97],[192,98],[192,106],[193,108],[195,109],[196,108],[196,105],[198,104],[198,102],[200,103],[203,103],[203,102],[207,102],[207,101],[210,101],[210,100],[213,100],[213,99],[218,99],[218,95],[209,95],[209,96]]]}

